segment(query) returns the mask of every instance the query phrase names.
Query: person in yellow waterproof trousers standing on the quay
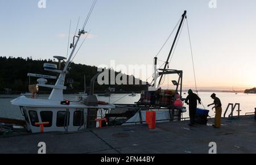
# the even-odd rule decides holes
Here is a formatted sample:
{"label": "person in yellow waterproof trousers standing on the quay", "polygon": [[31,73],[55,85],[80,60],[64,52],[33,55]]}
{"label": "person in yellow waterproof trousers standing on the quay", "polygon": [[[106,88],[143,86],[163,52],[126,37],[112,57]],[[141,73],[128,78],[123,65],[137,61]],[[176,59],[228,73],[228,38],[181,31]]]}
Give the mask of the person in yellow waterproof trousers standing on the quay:
{"label": "person in yellow waterproof trousers standing on the quay", "polygon": [[222,108],[221,108],[221,101],[219,98],[216,97],[216,94],[212,94],[210,95],[210,97],[214,100],[212,104],[209,104],[208,107],[210,105],[214,105],[213,108],[215,108],[215,120],[214,120],[214,125],[212,125],[214,128],[220,128],[221,126],[221,112],[222,112]]}

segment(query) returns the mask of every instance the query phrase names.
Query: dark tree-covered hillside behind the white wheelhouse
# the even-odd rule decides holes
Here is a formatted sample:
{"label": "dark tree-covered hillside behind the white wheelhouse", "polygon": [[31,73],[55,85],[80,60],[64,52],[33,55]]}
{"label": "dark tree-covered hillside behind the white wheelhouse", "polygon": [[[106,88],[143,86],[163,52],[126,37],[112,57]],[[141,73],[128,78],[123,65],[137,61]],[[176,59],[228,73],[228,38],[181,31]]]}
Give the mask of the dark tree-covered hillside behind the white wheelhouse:
{"label": "dark tree-covered hillside behind the white wheelhouse", "polygon": [[[55,60],[32,60],[32,58],[22,58],[22,57],[0,57],[0,91],[4,91],[5,88],[10,88],[13,93],[19,93],[21,91],[28,91],[29,80],[27,73],[37,73],[46,75],[56,75],[52,72],[45,71],[43,69],[44,63],[57,64]],[[61,65],[62,67],[64,64]],[[86,87],[90,86],[90,79],[97,74],[96,66],[88,66],[82,64],[71,64],[71,70],[67,74],[65,82],[67,86],[67,91],[65,92],[77,92],[84,91],[84,75],[86,79]],[[115,75],[118,73],[115,72]],[[126,75],[127,76],[127,75]],[[36,84],[37,78],[31,77],[31,84]],[[135,78],[134,78],[135,79]],[[55,80],[48,79],[49,84],[55,83]],[[71,83],[70,83],[71,82]],[[141,82],[141,81],[140,81]],[[107,85],[98,85],[95,83],[95,91],[105,91],[108,89]],[[146,85],[112,85],[115,87],[115,91],[141,91],[147,88]],[[40,87],[40,91],[50,91],[49,88]],[[89,89],[86,89],[86,92]]]}

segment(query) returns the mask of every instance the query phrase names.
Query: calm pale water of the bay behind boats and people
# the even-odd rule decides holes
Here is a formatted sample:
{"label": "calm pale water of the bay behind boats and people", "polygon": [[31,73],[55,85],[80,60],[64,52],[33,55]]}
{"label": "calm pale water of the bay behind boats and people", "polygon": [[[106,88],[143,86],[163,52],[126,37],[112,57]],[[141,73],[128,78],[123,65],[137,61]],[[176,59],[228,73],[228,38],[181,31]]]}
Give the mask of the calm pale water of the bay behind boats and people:
{"label": "calm pale water of the bay behind boats and people", "polygon": [[[207,107],[208,104],[213,103],[213,100],[210,98],[212,92],[200,92],[199,96],[205,106],[206,109],[210,110],[209,115],[213,116],[214,111],[211,110],[210,107]],[[245,115],[246,112],[254,112],[254,108],[256,107],[256,94],[242,94],[238,93],[237,95],[234,93],[228,92],[216,92],[218,98],[221,99],[222,102],[222,116],[226,109],[228,103],[240,103],[241,114]],[[187,96],[183,94],[183,98]],[[19,107],[15,105],[11,105],[10,101],[19,97],[19,95],[0,95],[0,117],[9,117],[15,119],[23,119],[23,116],[20,113]],[[41,95],[39,98],[47,98],[48,95]],[[74,95],[64,95],[64,98],[67,100],[75,100]],[[122,98],[122,99],[120,99]],[[110,103],[119,103],[119,104],[133,104],[135,101],[138,101],[140,95],[138,96],[128,96],[126,94],[114,94],[110,98],[109,97],[98,97],[98,100],[101,101],[110,101]],[[120,100],[119,100],[120,99]],[[186,105],[187,106],[187,105]],[[203,105],[199,105],[198,107],[203,108]],[[187,107],[188,109],[188,107]],[[229,115],[230,110],[227,112]],[[236,115],[237,112],[234,112]],[[188,117],[188,112],[183,114],[183,117]]]}

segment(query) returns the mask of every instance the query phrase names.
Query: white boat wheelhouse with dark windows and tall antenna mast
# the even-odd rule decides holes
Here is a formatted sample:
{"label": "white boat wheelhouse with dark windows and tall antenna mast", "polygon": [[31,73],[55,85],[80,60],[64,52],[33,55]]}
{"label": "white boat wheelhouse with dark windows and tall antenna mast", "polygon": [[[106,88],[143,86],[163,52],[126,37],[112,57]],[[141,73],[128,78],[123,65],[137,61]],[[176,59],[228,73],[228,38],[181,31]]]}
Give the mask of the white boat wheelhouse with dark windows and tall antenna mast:
{"label": "white boat wheelhouse with dark windows and tall antenna mast", "polygon": [[[91,9],[93,9],[95,3],[96,2],[94,1]],[[92,10],[90,10],[90,12],[92,12]],[[88,15],[90,15],[90,12]],[[26,120],[28,131],[32,133],[52,131],[73,132],[86,129],[87,127],[96,127],[95,119],[97,117],[98,109],[115,108],[114,104],[98,101],[96,96],[93,95],[93,92],[80,101],[65,100],[63,96],[63,90],[66,90],[67,88],[64,86],[65,77],[70,69],[75,54],[77,54],[77,52],[75,52],[77,44],[82,35],[88,36],[88,32],[85,32],[87,20],[88,19],[85,20],[84,25],[79,29],[78,33],[75,33],[75,36],[73,36],[73,43],[70,46],[71,53],[69,54],[63,69],[57,69],[56,64],[46,63],[43,65],[44,70],[59,74],[59,77],[56,78],[52,75],[42,74],[28,74],[30,77],[39,78],[37,84],[29,86],[32,98],[19,96],[18,98],[11,100],[11,104],[19,106],[20,111]],[[64,57],[59,59],[61,59],[59,62],[64,61]],[[46,84],[47,79],[57,80],[56,83],[52,85]],[[40,87],[52,88],[48,99],[36,98],[36,93]]]}

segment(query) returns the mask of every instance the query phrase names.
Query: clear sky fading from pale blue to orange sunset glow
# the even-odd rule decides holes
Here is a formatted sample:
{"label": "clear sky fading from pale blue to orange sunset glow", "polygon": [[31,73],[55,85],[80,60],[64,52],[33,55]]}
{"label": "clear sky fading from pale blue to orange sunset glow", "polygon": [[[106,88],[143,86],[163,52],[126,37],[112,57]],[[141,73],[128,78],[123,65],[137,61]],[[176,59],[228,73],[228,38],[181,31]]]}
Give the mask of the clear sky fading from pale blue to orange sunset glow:
{"label": "clear sky fading from pale blue to orange sunset glow", "polygon": [[[92,4],[92,0],[46,0],[46,9],[39,9],[38,2],[0,0],[0,56],[66,56],[69,21],[73,34],[79,16],[81,27]],[[197,86],[229,90],[255,87],[255,7],[254,0],[217,0],[215,9],[209,7],[209,0],[98,0],[86,26],[91,35],[74,62],[110,66],[110,60],[115,60],[115,65],[126,67],[152,65],[187,10]],[[166,60],[172,40],[159,54],[159,60]],[[184,87],[193,87],[186,24],[170,68],[183,70]],[[152,69],[145,74],[151,73]]]}

